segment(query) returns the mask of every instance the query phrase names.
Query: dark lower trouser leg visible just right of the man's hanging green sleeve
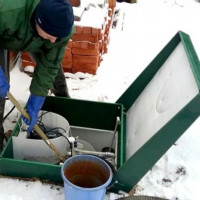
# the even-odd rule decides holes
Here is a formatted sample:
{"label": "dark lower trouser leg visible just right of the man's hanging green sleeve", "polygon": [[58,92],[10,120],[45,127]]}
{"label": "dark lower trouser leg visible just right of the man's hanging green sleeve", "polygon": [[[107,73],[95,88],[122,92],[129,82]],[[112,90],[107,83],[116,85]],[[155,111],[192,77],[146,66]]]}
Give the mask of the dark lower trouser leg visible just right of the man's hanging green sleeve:
{"label": "dark lower trouser leg visible just right of the man's hanging green sleeve", "polygon": [[55,96],[70,98],[62,67],[60,67],[58,71],[58,75],[55,78],[55,81],[53,83],[53,88],[51,90]]}

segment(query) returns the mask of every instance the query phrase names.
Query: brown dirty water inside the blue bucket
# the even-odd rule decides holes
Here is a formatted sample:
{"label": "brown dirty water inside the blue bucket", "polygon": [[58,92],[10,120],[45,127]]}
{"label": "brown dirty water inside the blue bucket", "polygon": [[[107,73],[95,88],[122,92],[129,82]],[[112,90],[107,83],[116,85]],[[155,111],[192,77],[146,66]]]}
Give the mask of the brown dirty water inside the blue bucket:
{"label": "brown dirty water inside the blue bucket", "polygon": [[64,170],[65,177],[74,185],[93,188],[103,185],[109,178],[109,172],[92,161],[76,161]]}

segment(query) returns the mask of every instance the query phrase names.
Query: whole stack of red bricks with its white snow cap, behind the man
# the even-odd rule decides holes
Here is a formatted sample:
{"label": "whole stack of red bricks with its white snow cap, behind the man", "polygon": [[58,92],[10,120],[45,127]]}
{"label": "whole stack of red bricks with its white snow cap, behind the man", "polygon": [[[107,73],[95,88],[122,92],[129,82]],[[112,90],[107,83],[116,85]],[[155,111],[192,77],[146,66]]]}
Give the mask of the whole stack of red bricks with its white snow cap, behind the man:
{"label": "whole stack of red bricks with its white snow cap, behind the man", "polygon": [[[91,2],[73,7],[75,16],[81,9],[81,17],[75,21],[75,32],[65,49],[61,63],[64,72],[96,74],[103,54],[108,51],[113,6],[102,0],[101,5]],[[35,67],[28,53],[23,53],[22,67],[27,65]]]}

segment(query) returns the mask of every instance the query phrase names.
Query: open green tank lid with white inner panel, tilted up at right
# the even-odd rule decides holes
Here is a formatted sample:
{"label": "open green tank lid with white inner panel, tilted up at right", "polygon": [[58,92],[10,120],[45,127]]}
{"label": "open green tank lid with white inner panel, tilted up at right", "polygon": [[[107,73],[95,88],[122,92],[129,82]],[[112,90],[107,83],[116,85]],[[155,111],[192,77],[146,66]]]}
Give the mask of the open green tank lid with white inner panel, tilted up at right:
{"label": "open green tank lid with white inner panel, tilted up at right", "polygon": [[130,191],[200,114],[200,63],[179,31],[130,85],[124,105],[126,162],[113,191]]}

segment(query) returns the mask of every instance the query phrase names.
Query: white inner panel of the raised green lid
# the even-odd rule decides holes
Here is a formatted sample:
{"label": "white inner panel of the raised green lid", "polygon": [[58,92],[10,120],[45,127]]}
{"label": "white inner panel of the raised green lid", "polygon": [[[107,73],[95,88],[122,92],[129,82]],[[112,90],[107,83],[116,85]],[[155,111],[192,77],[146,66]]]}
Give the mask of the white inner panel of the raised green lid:
{"label": "white inner panel of the raised green lid", "polygon": [[179,43],[127,112],[126,159],[198,92],[183,44]]}

